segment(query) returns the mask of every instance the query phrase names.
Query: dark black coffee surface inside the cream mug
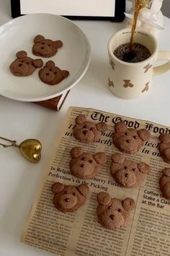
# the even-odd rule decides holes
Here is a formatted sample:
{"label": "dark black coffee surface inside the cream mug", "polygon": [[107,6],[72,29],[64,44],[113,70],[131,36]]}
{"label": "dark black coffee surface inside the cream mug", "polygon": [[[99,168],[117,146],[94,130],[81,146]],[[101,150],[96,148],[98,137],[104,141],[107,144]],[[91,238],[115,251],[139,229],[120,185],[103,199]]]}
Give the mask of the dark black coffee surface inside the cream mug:
{"label": "dark black coffee surface inside the cream mug", "polygon": [[124,43],[118,46],[113,54],[121,61],[136,63],[144,61],[151,56],[150,51],[146,46],[140,43],[133,43],[133,48],[130,48],[130,43]]}

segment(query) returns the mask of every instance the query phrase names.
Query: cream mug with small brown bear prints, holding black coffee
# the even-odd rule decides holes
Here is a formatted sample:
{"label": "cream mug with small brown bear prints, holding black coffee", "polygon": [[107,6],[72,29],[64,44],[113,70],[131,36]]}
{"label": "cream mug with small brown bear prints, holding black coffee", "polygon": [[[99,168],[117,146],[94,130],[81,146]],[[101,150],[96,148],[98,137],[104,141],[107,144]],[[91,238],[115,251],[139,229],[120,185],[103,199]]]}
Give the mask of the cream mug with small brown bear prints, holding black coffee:
{"label": "cream mug with small brown bear prints, holding black coffee", "polygon": [[158,51],[158,43],[151,33],[135,31],[134,42],[140,43],[151,52],[144,61],[130,63],[117,59],[115,49],[130,43],[131,30],[119,30],[109,39],[107,49],[109,54],[108,85],[112,93],[120,98],[139,98],[150,91],[154,75],[162,74],[170,69],[170,61],[153,67],[156,60],[170,60],[169,51]]}

